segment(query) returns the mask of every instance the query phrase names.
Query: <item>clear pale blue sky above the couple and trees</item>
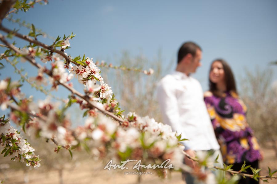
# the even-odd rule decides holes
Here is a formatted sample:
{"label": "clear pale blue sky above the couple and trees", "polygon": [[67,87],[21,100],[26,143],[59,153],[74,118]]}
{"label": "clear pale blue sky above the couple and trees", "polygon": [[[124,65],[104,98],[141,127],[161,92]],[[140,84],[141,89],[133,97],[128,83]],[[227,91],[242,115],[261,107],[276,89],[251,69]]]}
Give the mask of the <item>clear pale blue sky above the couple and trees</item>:
{"label": "clear pale blue sky above the couple and trees", "polygon": [[[123,50],[133,55],[143,53],[151,60],[161,49],[163,64],[174,61],[175,68],[179,46],[195,41],[203,49],[203,65],[194,76],[207,90],[208,69],[218,57],[229,62],[238,83],[245,69],[255,72],[256,68],[271,68],[273,80],[277,80],[277,65],[268,65],[277,60],[276,8],[276,0],[49,0],[48,5],[35,5],[14,18],[33,23],[52,37],[73,32],[76,37],[67,53],[85,53],[108,63]],[[3,25],[16,27],[8,21]],[[45,42],[50,43],[47,39]],[[31,76],[32,70],[27,71]],[[13,69],[6,66],[0,72],[2,79]]]}

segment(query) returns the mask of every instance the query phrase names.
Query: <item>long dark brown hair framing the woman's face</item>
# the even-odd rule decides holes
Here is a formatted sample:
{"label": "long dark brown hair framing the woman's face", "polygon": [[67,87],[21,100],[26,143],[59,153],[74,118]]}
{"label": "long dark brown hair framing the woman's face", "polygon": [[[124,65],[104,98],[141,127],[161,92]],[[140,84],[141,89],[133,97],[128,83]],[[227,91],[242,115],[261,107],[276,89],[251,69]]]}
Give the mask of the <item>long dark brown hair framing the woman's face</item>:
{"label": "long dark brown hair framing the woman's face", "polygon": [[[236,94],[238,94],[237,89],[236,89],[236,82],[235,82],[234,74],[231,70],[231,67],[228,65],[228,63],[225,60],[215,59],[211,64],[210,72],[212,70],[212,65],[215,61],[220,62],[223,66],[224,76],[225,76],[224,79],[225,79],[227,92],[235,92]],[[209,90],[213,93],[213,95],[220,96],[220,93],[219,93],[218,89],[216,88],[216,84],[210,80],[210,72],[209,72],[209,88],[210,88]]]}

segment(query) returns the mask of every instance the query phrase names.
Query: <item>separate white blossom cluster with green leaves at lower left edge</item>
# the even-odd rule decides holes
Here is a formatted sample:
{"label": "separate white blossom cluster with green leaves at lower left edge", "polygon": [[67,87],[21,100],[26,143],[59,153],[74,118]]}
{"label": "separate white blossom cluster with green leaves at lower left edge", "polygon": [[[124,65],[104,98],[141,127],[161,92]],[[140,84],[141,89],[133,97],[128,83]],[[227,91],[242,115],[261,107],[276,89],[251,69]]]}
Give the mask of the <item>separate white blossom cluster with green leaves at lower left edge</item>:
{"label": "separate white blossom cluster with green leaves at lower left edge", "polygon": [[0,124],[0,135],[0,145],[4,147],[2,153],[6,152],[5,155],[26,162],[26,166],[40,166],[40,159],[34,155],[34,148],[18,134],[17,129],[12,127],[10,123]]}

